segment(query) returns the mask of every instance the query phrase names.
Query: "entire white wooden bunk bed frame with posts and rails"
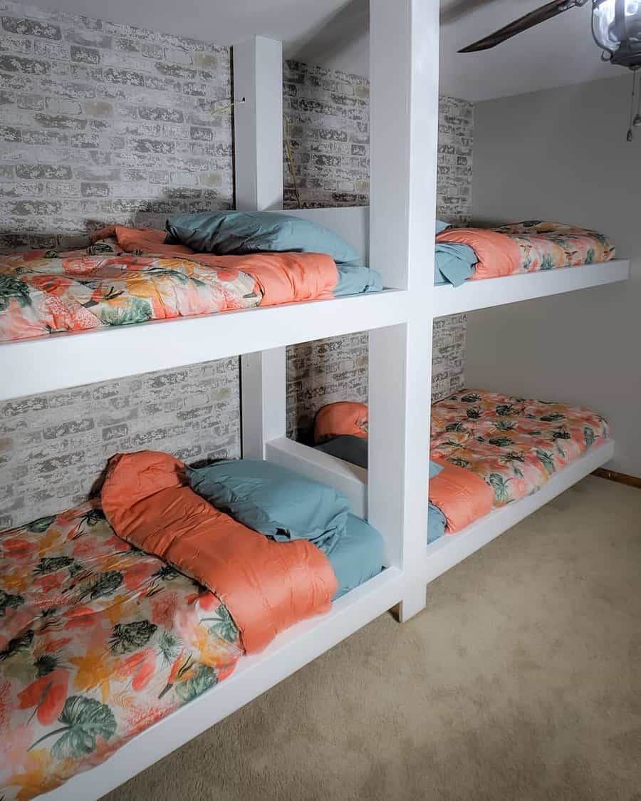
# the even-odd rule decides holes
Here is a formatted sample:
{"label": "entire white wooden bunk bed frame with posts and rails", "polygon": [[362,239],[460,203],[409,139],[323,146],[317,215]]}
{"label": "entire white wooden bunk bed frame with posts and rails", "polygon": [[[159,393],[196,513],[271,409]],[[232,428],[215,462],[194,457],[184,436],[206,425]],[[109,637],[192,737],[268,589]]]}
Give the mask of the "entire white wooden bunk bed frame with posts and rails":
{"label": "entire white wooden bunk bed frame with posts and rails", "polygon": [[[42,795],[47,801],[98,799],[384,611],[400,605],[400,619],[411,618],[426,605],[426,585],[435,575],[611,458],[610,442],[541,493],[443,538],[428,549],[434,557],[427,555],[434,317],[567,291],[588,285],[581,284],[585,280],[624,280],[627,270],[621,263],[603,271],[496,279],[485,282],[493,288],[480,294],[479,284],[455,292],[434,288],[439,4],[370,0],[370,6],[371,207],[294,213],[369,252],[371,267],[393,289],[2,344],[0,374],[10,382],[0,387],[0,400],[243,354],[244,455],[289,465],[342,489],[355,512],[383,533],[387,567],[335,602],[330,614],[293,626],[262,654],[242,658],[220,686],[137,735],[105,763]],[[234,46],[234,96],[246,99],[234,110],[237,206],[282,208],[280,42],[257,37]],[[493,300],[497,290],[503,300]],[[285,346],[363,330],[370,331],[368,471],[285,438]],[[459,545],[447,548],[451,541]]]}

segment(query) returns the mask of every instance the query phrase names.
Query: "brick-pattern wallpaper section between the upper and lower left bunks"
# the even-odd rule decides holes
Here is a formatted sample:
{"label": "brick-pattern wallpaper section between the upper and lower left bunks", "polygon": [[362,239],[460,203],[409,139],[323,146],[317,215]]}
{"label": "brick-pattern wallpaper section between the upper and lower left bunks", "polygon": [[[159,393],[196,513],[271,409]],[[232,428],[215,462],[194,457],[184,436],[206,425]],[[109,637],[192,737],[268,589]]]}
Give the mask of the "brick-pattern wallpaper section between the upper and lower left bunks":
{"label": "brick-pattern wallpaper section between the upper and lower left bunks", "polygon": [[240,455],[238,359],[0,405],[0,529],[86,499],[114,453]]}

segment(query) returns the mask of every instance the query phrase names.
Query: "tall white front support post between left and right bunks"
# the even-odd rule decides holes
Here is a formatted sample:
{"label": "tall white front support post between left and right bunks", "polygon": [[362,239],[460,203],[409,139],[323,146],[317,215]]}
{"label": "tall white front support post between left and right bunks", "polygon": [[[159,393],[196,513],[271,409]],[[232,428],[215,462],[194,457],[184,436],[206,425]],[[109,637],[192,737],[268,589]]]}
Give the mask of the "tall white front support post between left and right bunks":
{"label": "tall white front support post between left and right bunks", "polygon": [[439,2],[370,0],[370,262],[409,292],[407,323],[370,333],[369,519],[425,606]]}

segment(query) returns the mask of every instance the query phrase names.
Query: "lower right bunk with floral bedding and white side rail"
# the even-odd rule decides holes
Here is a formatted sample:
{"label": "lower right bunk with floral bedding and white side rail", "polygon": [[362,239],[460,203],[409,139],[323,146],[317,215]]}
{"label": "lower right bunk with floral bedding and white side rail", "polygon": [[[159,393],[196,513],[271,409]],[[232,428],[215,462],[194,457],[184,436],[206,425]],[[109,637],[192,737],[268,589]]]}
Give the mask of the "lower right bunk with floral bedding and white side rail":
{"label": "lower right bunk with floral bedding and white side rail", "polygon": [[[327,405],[315,420],[315,447],[367,468],[368,426],[366,405]],[[427,581],[610,461],[613,453],[607,422],[588,409],[471,389],[436,402]]]}

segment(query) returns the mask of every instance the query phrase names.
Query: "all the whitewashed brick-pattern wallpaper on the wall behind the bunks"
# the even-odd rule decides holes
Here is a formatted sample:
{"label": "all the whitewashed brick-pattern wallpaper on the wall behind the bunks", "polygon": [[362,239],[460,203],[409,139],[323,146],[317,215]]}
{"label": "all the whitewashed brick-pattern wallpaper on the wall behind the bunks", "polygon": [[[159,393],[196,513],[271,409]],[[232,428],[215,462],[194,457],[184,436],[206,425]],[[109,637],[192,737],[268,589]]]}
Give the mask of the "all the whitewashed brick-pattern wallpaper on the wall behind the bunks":
{"label": "all the whitewashed brick-pattern wallpaper on the wall behind the bunks", "polygon": [[[367,203],[367,82],[291,63],[285,74],[303,201]],[[212,113],[229,96],[227,48],[0,0],[0,250],[68,247],[107,223],[162,226],[172,212],[230,207],[230,115]],[[453,119],[455,103],[447,108]],[[439,157],[450,169],[443,208],[454,211],[465,196],[456,148],[469,142],[447,136],[471,128],[471,109],[460,111],[457,125],[443,122],[455,151]],[[443,386],[461,366],[461,325],[443,331]],[[289,368],[298,430],[325,402],[366,399],[367,335],[290,348]],[[238,360],[0,405],[0,528],[81,501],[110,455],[140,448],[237,457]]]}

